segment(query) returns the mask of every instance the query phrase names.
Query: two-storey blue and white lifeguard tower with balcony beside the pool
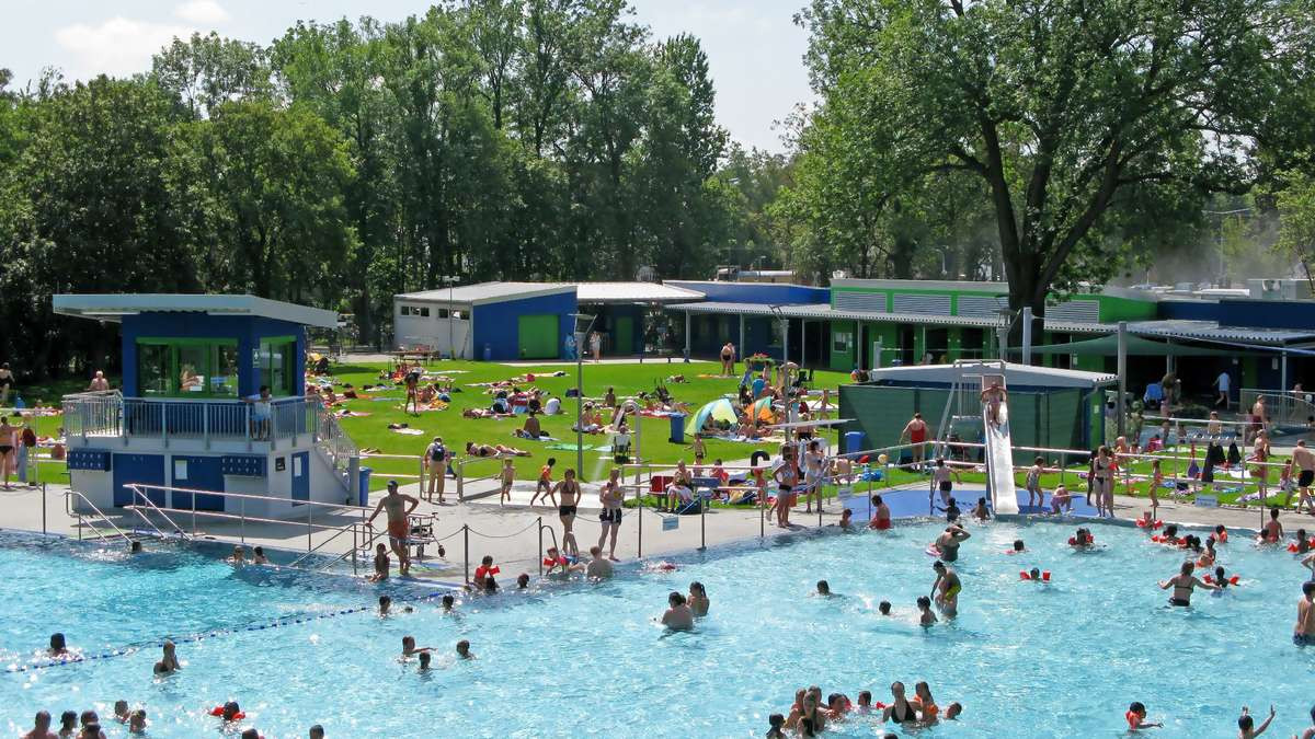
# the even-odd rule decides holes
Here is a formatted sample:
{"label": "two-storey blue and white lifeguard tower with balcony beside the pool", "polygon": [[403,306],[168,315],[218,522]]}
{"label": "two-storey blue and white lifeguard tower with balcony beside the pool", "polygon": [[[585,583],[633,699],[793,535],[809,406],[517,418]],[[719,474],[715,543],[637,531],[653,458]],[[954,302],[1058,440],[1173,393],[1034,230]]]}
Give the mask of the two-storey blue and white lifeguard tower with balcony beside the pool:
{"label": "two-storey blue and white lifeguard tower with balcony beside the pool", "polygon": [[53,302],[55,313],[122,325],[122,388],[63,398],[70,485],[91,505],[146,505],[130,484],[153,485],[141,489],[160,509],[237,509],[172,488],[262,496],[243,500],[243,513],[268,518],[302,501],[356,502],[356,447],[305,394],[305,327],[335,327],[335,313],[250,295]]}

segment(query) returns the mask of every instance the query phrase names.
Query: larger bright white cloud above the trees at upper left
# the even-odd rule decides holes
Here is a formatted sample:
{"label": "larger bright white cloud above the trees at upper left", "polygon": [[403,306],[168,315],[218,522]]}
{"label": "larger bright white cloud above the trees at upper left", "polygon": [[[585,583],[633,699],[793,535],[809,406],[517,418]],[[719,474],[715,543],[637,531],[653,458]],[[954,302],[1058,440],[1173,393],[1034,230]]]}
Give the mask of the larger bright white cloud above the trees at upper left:
{"label": "larger bright white cloud above the trees at upper left", "polygon": [[72,59],[64,72],[72,79],[99,74],[128,76],[150,70],[151,55],[174,37],[188,38],[192,28],[113,17],[99,25],[74,24],[55,32],[55,42]]}

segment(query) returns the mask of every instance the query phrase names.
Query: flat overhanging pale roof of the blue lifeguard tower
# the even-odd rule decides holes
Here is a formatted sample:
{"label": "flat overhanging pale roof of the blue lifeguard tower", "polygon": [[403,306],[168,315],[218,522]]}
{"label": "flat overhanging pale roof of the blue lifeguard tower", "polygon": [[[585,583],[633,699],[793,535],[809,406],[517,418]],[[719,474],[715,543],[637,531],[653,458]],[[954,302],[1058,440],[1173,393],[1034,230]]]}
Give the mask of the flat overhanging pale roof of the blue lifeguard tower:
{"label": "flat overhanging pale roof of the blue lifeguard tower", "polygon": [[254,295],[57,295],[51,297],[55,313],[95,321],[121,322],[124,316],[142,313],[205,313],[206,316],[250,316],[275,318],[304,326],[337,329],[338,314],[333,310],[309,308],[255,297]]}

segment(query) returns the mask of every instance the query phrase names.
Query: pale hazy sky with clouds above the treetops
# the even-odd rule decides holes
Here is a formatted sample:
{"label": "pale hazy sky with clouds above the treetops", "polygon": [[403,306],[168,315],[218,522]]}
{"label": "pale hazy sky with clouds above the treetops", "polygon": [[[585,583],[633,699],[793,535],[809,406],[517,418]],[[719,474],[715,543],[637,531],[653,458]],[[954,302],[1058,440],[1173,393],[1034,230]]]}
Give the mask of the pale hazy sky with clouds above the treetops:
{"label": "pale hazy sky with clouds above the treetops", "polygon": [[[806,0],[631,0],[635,17],[658,38],[690,33],[707,51],[717,117],[744,146],[781,151],[775,126],[811,103],[802,57],[803,29],[792,21]],[[43,67],[67,79],[150,68],[151,54],[175,36],[216,30],[268,43],[297,20],[331,21],[368,13],[396,21],[422,13],[419,0],[3,0],[0,67],[16,87]]]}

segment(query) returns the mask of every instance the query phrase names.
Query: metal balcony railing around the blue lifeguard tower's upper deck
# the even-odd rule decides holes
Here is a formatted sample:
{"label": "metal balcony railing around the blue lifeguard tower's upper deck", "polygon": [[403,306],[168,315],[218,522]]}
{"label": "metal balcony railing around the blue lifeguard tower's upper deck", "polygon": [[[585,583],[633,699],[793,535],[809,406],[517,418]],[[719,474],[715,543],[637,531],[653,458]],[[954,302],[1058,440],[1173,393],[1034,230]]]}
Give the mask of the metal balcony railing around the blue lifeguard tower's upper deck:
{"label": "metal balcony railing around the blue lifeguard tower's upper deck", "polygon": [[[281,398],[270,402],[270,417],[258,418],[255,406],[239,400],[184,400],[124,397],[117,391],[66,396],[64,431],[72,438],[130,438],[204,441],[293,442],[317,434],[318,398]],[[325,437],[343,437],[337,422]],[[321,437],[316,437],[321,438]],[[341,439],[335,441],[341,446]],[[347,442],[350,443],[350,441]],[[352,447],[355,448],[355,447]]]}

